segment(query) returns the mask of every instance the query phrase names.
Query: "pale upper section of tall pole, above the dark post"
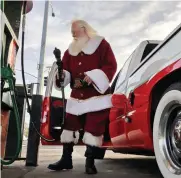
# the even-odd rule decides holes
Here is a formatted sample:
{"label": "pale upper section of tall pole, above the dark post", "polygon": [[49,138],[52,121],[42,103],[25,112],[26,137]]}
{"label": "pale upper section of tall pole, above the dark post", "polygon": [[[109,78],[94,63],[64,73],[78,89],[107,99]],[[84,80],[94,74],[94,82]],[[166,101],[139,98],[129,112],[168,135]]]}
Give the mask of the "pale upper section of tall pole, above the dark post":
{"label": "pale upper section of tall pole, above the dark post", "polygon": [[45,1],[45,10],[44,10],[44,20],[43,20],[43,31],[41,38],[41,51],[40,51],[40,60],[38,66],[38,81],[37,85],[37,95],[42,95],[43,93],[43,70],[44,70],[44,58],[45,58],[45,46],[46,46],[46,35],[47,35],[47,24],[48,24],[48,9],[49,9],[49,0]]}

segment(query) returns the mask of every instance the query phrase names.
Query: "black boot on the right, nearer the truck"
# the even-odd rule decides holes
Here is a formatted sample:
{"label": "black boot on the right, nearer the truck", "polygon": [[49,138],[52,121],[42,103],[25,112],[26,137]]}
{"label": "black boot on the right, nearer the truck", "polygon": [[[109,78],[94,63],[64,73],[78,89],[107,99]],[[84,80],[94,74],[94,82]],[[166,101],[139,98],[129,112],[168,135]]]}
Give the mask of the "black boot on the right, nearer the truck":
{"label": "black boot on the right, nearer the truck", "polygon": [[86,157],[85,172],[87,174],[97,174],[97,169],[94,165],[94,147],[87,146],[85,157]]}

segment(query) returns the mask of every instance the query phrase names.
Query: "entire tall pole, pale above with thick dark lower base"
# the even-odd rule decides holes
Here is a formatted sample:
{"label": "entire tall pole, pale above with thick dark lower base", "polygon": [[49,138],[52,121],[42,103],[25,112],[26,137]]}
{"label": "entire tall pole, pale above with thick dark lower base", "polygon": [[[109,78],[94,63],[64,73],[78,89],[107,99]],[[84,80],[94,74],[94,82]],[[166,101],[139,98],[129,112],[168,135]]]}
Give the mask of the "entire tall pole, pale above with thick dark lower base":
{"label": "entire tall pole, pale above with thick dark lower base", "polygon": [[[45,56],[47,23],[48,23],[48,9],[49,9],[49,0],[45,1],[41,51],[40,51],[40,60],[38,68],[38,81],[37,81],[38,85],[37,85],[36,94],[32,96],[26,166],[38,165],[37,163],[38,163],[40,136],[36,133],[34,127],[36,127],[36,130],[40,132],[41,105],[43,100],[43,87],[44,87],[43,73],[44,73],[44,56]],[[32,122],[34,123],[34,126],[32,125]]]}

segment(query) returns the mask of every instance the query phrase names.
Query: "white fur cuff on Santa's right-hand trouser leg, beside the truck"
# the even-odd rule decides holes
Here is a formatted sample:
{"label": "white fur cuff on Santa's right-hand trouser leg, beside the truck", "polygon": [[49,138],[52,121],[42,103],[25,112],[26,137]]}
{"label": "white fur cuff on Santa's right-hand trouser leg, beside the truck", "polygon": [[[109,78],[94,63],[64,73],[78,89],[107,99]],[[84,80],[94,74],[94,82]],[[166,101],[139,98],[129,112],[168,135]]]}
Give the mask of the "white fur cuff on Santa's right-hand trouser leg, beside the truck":
{"label": "white fur cuff on Santa's right-hand trouser leg, beside the truck", "polygon": [[102,143],[103,143],[103,135],[101,135],[101,136],[94,136],[94,135],[92,135],[89,132],[85,132],[82,141],[86,145],[101,147]]}

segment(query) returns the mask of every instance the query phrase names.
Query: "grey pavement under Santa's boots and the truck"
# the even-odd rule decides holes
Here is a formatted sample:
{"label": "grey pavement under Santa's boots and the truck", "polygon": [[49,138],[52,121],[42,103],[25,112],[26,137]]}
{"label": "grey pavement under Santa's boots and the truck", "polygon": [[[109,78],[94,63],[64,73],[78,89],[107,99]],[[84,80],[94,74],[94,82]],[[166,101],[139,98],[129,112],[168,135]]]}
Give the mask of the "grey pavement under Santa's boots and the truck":
{"label": "grey pavement under Santa's boots and the truck", "polygon": [[[57,161],[61,156],[61,146],[41,146],[37,167],[25,167],[25,161],[16,161],[2,170],[2,178],[162,178],[154,157],[127,155],[107,151],[104,160],[96,160],[97,175],[84,173],[85,147],[76,146],[73,153],[74,169],[71,171],[50,171],[49,163]],[[22,157],[26,154],[24,147]]]}

